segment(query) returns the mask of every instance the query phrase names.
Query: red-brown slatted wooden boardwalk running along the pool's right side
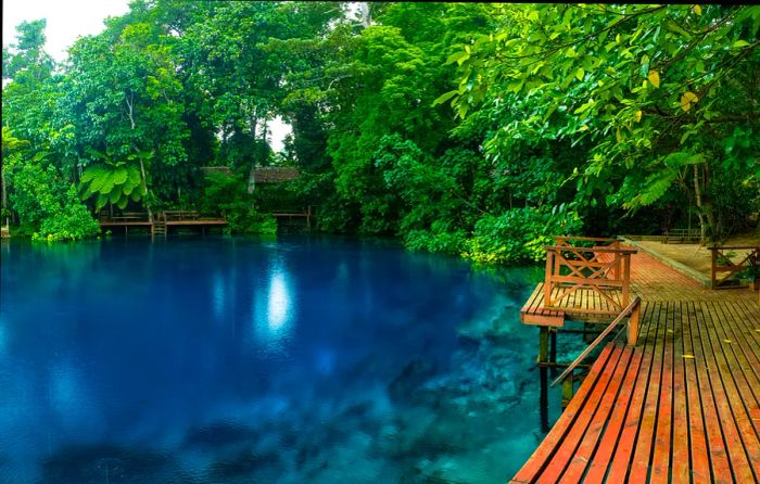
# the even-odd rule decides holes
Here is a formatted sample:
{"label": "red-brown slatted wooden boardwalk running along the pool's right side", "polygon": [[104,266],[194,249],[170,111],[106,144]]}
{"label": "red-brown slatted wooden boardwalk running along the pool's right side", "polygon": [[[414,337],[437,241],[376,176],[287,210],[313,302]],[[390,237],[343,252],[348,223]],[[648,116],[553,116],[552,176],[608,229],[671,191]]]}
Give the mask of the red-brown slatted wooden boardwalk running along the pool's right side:
{"label": "red-brown slatted wooden boardwalk running along the pool's right side", "polygon": [[760,482],[760,306],[646,255],[636,346],[609,343],[512,483]]}

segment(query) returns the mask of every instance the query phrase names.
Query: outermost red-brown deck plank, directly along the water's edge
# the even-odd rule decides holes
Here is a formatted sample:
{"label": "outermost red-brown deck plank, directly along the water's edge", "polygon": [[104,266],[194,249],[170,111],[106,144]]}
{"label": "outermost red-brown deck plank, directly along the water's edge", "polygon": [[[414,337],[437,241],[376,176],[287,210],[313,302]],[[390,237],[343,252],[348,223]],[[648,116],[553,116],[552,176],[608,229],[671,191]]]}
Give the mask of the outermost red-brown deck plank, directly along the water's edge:
{"label": "outermost red-brown deck plank, directly along the water's edge", "polygon": [[534,482],[535,479],[537,479],[547,460],[554,455],[555,448],[560,442],[562,442],[568,429],[572,426],[577,413],[583,408],[586,397],[596,385],[596,381],[601,374],[601,370],[604,369],[605,364],[611,354],[611,346],[605,346],[601,349],[598,358],[588,370],[588,374],[585,379],[583,379],[583,383],[581,383],[580,389],[578,389],[578,393],[570,400],[570,404],[565,409],[562,415],[559,416],[557,423],[554,424],[539,448],[535,449],[522,469],[520,469],[515,477],[512,477],[511,482],[528,483]]}

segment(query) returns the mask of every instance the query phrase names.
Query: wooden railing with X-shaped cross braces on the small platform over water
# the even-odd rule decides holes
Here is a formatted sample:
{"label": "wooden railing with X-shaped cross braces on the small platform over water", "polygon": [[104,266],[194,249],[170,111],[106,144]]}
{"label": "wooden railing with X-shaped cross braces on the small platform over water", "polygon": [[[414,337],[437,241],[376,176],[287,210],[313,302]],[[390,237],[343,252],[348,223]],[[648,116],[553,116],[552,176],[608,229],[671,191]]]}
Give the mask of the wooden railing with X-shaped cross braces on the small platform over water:
{"label": "wooden railing with X-shaped cross braces on the small platform over water", "polygon": [[[571,242],[592,246],[575,246]],[[558,237],[556,245],[546,246],[544,307],[562,308],[562,303],[579,289],[595,291],[606,300],[615,314],[630,304],[631,255],[634,249],[622,249],[617,239]],[[558,293],[554,294],[555,289]],[[620,300],[610,295],[620,291]]]}

